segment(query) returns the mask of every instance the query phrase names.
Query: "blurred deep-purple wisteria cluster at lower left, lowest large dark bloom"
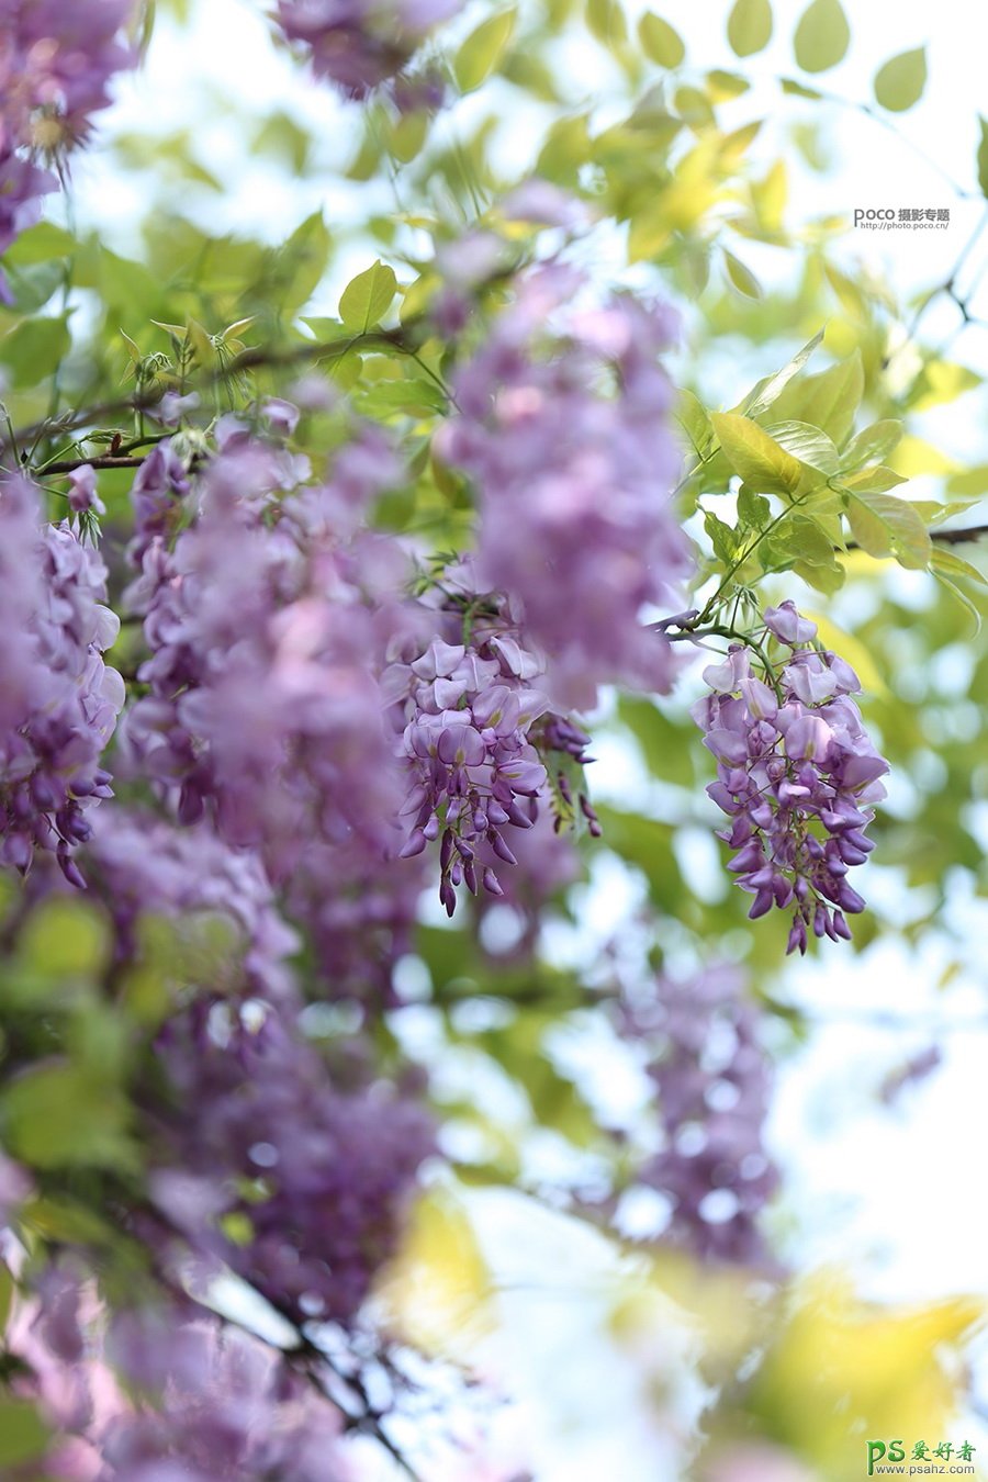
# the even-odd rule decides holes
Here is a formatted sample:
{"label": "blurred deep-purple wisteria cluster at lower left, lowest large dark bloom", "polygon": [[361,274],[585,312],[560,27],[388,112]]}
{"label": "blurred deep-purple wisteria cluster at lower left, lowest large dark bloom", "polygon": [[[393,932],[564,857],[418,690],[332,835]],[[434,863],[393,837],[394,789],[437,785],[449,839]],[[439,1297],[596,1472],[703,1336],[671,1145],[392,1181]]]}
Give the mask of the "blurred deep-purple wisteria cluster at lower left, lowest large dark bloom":
{"label": "blurred deep-purple wisteria cluster at lower left, lowest large dark bloom", "polygon": [[153,1190],[169,1224],[293,1322],[351,1322],[434,1149],[425,1112],[384,1085],[330,1079],[274,1009],[256,1024],[198,1000],[160,1058],[175,1104],[158,1109],[167,1166]]}

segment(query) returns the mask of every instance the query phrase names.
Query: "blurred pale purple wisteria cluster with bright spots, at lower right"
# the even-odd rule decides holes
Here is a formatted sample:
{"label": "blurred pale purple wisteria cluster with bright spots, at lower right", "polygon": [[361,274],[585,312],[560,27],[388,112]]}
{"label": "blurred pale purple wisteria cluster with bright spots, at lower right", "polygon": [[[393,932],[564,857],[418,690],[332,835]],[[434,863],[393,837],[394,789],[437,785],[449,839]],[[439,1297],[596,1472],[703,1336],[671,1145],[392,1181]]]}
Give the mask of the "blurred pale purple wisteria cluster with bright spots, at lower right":
{"label": "blurred pale purple wisteria cluster with bright spots, at lower right", "polygon": [[665,1147],[635,1181],[672,1205],[662,1239],[701,1260],[766,1261],[757,1217],[778,1186],[763,1146],[770,1064],[744,978],[729,966],[625,1008],[624,1031],[659,1045],[649,1064]]}

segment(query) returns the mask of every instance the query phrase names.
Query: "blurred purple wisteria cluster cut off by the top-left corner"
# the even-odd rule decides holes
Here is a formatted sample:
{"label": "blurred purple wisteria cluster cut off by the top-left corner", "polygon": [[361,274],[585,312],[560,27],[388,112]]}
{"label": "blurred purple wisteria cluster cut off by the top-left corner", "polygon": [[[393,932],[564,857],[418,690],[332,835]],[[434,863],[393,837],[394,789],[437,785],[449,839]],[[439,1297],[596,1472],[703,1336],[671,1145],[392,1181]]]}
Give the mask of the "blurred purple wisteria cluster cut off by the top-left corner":
{"label": "blurred purple wisteria cluster cut off by the top-left corner", "polygon": [[[117,34],[132,0],[0,0],[0,253],[34,225],[58,190],[34,156],[84,142],[110,102],[114,73],[132,64]],[[0,299],[10,301],[0,273]]]}

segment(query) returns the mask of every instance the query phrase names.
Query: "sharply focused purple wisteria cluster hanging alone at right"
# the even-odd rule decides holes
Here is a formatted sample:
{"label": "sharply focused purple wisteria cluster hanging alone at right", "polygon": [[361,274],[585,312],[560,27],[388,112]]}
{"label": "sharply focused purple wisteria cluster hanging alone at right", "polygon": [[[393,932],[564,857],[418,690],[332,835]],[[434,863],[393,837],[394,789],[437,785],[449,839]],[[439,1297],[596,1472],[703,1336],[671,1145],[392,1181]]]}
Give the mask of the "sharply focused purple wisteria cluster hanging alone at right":
{"label": "sharply focused purple wisteria cluster hanging alone at right", "polygon": [[748,914],[792,906],[787,950],[804,953],[810,931],[849,940],[844,911],[864,910],[846,877],[872,849],[869,805],[884,797],[889,763],[850,698],[858,676],[812,648],[816,624],[784,602],[766,608],[764,625],[788,654],[758,679],[751,651],[735,645],[704,670],[714,694],[692,714],[717,757],[707,791],[732,820],[720,837],[738,851],[729,865],[738,885],[754,895]]}

